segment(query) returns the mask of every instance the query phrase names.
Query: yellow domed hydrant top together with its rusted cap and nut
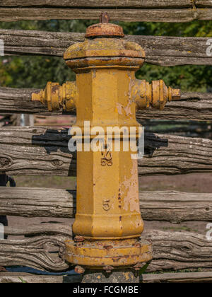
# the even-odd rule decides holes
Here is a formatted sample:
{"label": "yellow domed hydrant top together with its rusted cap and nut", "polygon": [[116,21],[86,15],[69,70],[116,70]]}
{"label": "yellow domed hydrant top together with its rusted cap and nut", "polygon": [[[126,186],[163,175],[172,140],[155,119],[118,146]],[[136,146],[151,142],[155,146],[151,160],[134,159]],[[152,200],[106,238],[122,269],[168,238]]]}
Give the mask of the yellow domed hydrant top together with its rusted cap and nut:
{"label": "yellow domed hydrant top together with its rusted cap and nut", "polygon": [[71,45],[64,52],[71,69],[112,65],[140,68],[143,65],[145,52],[141,45],[121,38],[124,37],[122,27],[108,21],[108,14],[102,13],[100,23],[88,27],[86,40]]}

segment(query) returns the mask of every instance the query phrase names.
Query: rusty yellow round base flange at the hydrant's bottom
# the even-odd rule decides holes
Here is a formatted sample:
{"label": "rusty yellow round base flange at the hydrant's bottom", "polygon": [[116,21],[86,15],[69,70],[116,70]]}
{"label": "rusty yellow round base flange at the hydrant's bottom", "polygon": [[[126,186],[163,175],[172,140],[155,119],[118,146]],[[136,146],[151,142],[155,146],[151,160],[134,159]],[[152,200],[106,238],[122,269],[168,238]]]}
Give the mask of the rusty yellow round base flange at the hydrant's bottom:
{"label": "rusty yellow round base flange at the hydrant's bottom", "polygon": [[88,269],[134,267],[152,260],[151,240],[66,241],[65,260]]}

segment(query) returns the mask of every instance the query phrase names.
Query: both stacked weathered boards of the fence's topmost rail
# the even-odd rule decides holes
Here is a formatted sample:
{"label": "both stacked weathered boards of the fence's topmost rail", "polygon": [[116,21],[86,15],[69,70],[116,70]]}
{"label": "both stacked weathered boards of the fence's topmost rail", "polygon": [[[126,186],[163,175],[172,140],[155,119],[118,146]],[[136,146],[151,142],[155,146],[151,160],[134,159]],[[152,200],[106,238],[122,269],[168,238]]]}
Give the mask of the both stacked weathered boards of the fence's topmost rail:
{"label": "both stacked weathered boards of the fence's topmost rail", "polygon": [[0,21],[98,19],[107,10],[112,21],[189,22],[211,20],[211,0],[171,1],[24,1],[0,4]]}

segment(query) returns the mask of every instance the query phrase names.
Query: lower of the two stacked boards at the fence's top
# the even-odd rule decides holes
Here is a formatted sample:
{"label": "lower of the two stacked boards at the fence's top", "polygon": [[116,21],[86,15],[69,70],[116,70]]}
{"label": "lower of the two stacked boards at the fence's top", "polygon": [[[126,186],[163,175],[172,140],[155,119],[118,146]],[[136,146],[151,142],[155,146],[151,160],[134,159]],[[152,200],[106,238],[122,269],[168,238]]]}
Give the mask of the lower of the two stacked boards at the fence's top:
{"label": "lower of the two stacked boards at the fence's top", "polygon": [[[204,10],[204,11],[203,11]],[[105,8],[9,8],[2,7],[0,21],[89,19],[98,20]],[[211,8],[107,8],[111,21],[185,23],[211,20]]]}

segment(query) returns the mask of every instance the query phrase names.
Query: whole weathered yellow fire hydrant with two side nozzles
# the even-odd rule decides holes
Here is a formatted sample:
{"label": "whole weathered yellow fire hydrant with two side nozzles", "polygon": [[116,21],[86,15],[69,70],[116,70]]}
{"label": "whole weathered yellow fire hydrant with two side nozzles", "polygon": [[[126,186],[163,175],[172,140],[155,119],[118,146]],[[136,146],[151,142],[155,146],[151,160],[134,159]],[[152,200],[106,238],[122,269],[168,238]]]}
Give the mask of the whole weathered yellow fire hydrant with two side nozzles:
{"label": "whole weathered yellow fire hydrant with two side nozzles", "polygon": [[[90,131],[100,126],[136,127],[136,110],[163,109],[179,100],[180,91],[167,88],[163,81],[151,84],[135,78],[145,62],[145,52],[135,42],[124,39],[119,25],[108,23],[103,13],[100,23],[86,30],[86,40],[66,50],[66,64],[76,72],[76,82],[47,83],[45,91],[33,93],[49,111],[76,109],[76,127]],[[90,135],[90,141],[94,135]],[[114,137],[112,144],[114,144]],[[121,137],[124,141],[124,136]],[[143,220],[139,208],[136,158],[131,151],[77,152],[76,219],[73,240],[66,242],[66,260],[84,269],[140,269],[152,259],[151,242],[141,238]]]}

